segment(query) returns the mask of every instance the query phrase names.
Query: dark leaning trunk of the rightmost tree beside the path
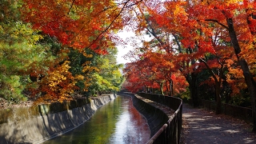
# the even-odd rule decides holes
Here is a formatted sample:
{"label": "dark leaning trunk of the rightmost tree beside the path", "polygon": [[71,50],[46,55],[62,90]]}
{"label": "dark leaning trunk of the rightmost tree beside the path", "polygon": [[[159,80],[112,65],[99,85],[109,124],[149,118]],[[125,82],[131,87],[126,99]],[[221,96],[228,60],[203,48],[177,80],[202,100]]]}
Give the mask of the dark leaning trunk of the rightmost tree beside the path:
{"label": "dark leaning trunk of the rightmost tree beside the path", "polygon": [[255,105],[256,104],[256,82],[254,81],[253,75],[250,73],[250,69],[249,69],[249,66],[248,66],[246,60],[244,58],[239,57],[241,48],[238,44],[238,38],[237,38],[237,35],[235,34],[232,18],[227,18],[226,22],[228,25],[231,42],[234,47],[234,53],[237,55],[238,63],[242,68],[243,76],[245,77],[246,85],[247,85],[249,93],[250,93],[251,105],[252,105],[252,110],[253,110],[253,118],[254,118],[253,131],[256,131],[256,107],[255,107],[256,106]]}

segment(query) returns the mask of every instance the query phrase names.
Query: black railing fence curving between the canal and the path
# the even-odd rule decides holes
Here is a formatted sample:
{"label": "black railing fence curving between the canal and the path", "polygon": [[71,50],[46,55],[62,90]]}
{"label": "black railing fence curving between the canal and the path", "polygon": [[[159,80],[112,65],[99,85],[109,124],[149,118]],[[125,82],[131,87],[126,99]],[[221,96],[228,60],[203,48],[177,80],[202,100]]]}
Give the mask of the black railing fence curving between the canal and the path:
{"label": "black railing fence curving between the canal and the path", "polygon": [[161,103],[162,105],[169,106],[170,109],[175,110],[174,114],[171,115],[171,118],[166,124],[164,124],[147,143],[179,143],[182,132],[182,99],[148,93],[139,93],[138,95],[154,102]]}

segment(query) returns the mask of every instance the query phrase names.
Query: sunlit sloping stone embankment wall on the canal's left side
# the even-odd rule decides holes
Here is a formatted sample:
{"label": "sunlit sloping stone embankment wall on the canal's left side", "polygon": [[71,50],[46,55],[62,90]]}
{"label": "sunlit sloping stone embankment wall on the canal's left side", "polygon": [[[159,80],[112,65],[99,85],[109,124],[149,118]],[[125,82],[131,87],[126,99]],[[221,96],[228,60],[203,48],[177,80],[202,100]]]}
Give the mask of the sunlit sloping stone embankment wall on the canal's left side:
{"label": "sunlit sloping stone embankment wall on the canal's left side", "polygon": [[0,110],[0,143],[40,143],[82,125],[114,94],[93,99]]}

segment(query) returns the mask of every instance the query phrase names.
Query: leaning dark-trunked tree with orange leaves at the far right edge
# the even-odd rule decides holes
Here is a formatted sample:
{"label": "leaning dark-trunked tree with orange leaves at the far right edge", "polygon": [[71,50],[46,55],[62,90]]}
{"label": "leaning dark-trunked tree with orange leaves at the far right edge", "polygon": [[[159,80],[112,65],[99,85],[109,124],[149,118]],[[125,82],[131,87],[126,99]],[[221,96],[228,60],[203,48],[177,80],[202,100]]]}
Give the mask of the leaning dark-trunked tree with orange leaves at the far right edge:
{"label": "leaning dark-trunked tree with orange leaves at the far right edge", "polygon": [[[206,21],[222,26],[230,38],[234,54],[236,54],[239,65],[248,87],[254,113],[254,131],[256,130],[256,83],[251,69],[254,67],[254,10],[255,2],[250,1],[206,1],[191,6],[190,13],[194,20]],[[199,10],[199,11],[198,11]],[[249,13],[246,13],[246,11]],[[203,11],[203,13],[202,13]],[[248,55],[250,54],[250,56]],[[250,58],[250,59],[247,59]]]}

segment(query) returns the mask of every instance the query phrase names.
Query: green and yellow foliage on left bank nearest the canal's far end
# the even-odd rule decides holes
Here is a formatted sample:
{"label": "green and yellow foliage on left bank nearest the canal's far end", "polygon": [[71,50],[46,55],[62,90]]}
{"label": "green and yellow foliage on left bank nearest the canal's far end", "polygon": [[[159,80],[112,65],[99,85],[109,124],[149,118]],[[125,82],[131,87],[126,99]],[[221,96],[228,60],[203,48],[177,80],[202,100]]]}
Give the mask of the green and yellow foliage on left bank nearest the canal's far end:
{"label": "green and yellow foliage on left bank nearest the canal's far end", "polygon": [[79,93],[85,95],[97,95],[116,92],[123,82],[122,74],[117,65],[116,48],[109,50],[109,54],[100,55],[92,50],[70,50],[70,72],[76,76],[76,86]]}

